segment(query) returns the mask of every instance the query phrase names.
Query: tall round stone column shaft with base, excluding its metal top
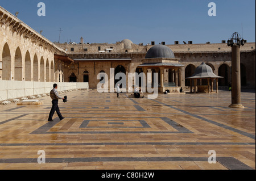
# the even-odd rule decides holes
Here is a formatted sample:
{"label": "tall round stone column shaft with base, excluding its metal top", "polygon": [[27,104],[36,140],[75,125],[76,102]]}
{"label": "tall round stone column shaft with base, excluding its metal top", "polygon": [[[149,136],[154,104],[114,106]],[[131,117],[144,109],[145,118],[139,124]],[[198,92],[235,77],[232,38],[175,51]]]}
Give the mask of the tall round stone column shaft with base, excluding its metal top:
{"label": "tall round stone column shaft with base, excluding its metal top", "polygon": [[244,108],[241,104],[240,47],[232,47],[232,108]]}

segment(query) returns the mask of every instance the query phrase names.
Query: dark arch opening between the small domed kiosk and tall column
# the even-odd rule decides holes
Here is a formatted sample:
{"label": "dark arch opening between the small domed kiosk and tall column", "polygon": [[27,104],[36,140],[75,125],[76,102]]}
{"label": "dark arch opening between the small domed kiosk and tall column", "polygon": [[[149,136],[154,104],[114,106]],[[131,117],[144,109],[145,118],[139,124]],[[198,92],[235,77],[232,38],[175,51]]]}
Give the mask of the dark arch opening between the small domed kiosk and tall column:
{"label": "dark arch opening between the small domed kiosk and tall column", "polygon": [[224,78],[218,79],[218,85],[219,86],[228,86],[229,83],[231,82],[230,67],[227,64],[222,64],[218,68],[218,76],[224,77]]}

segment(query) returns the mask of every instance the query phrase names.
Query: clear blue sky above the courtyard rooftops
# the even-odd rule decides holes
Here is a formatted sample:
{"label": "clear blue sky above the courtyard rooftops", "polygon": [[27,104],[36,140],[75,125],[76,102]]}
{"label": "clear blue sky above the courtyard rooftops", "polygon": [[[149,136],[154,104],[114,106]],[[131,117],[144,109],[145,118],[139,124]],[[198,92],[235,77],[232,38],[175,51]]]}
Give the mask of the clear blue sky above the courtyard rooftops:
{"label": "clear blue sky above the courtyard rooftops", "polygon": [[[46,16],[38,16],[38,3],[46,4]],[[217,6],[217,16],[208,16],[208,3]],[[233,32],[255,42],[254,0],[0,0],[0,6],[15,14],[51,41],[156,44],[166,41],[221,43]]]}

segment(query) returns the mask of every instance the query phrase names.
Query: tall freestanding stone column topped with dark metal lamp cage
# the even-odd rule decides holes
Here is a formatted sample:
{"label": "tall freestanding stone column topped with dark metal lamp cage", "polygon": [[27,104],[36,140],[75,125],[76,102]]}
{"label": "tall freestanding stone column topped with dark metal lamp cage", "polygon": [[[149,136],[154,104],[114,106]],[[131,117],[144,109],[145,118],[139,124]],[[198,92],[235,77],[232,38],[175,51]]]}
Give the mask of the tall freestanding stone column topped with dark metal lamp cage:
{"label": "tall freestanding stone column topped with dark metal lamp cage", "polygon": [[241,69],[240,47],[245,45],[239,33],[235,32],[228,40],[228,46],[232,47],[232,108],[244,108],[241,104]]}

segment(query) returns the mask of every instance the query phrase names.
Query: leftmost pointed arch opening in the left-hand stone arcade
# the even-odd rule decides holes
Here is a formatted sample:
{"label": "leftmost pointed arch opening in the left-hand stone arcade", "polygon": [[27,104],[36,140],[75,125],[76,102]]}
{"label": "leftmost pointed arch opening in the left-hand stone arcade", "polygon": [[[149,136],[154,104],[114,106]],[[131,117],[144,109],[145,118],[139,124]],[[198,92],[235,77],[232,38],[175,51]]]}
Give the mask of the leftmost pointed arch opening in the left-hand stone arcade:
{"label": "leftmost pointed arch opening in the left-hand stone arcade", "polygon": [[10,52],[9,45],[7,43],[5,44],[5,46],[3,46],[2,60],[3,60],[2,79],[4,81],[10,81],[11,80],[11,52]]}

